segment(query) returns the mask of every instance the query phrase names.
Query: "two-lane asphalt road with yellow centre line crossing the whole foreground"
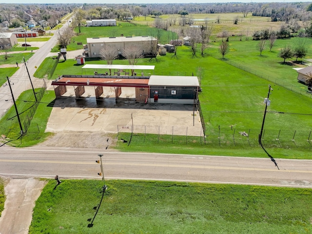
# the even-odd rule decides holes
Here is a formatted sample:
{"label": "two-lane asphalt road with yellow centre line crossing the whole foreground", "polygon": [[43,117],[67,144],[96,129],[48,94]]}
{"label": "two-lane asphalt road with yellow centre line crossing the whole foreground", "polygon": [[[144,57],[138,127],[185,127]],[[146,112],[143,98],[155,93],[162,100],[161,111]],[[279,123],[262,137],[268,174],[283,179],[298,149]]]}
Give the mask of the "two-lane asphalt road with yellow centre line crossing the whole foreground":
{"label": "two-lane asphalt road with yellow centre line crossing the whole foreground", "polygon": [[0,175],[11,178],[147,179],[312,188],[312,160],[140,154],[70,149],[1,147]]}

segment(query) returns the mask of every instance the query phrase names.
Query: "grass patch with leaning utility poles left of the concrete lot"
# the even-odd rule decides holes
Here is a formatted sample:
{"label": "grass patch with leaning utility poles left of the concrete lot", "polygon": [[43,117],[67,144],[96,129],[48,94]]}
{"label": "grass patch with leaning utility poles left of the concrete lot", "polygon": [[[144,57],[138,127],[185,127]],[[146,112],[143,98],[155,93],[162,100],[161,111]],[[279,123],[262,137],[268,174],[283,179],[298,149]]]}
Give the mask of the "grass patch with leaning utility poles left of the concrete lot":
{"label": "grass patch with leaning utility poles left of the concrete lot", "polygon": [[[35,89],[36,91],[36,89]],[[16,100],[17,108],[20,114],[20,121],[27,121],[29,113],[33,110],[34,96],[32,90],[23,92]],[[14,106],[12,106],[6,114],[0,119],[0,134],[4,135],[5,142],[9,141],[9,145],[17,147],[26,147],[38,144],[51,136],[51,133],[45,133],[46,124],[53,107],[55,94],[53,91],[48,91],[41,99],[36,114],[33,116],[27,133],[20,137],[20,125],[16,115]],[[22,124],[23,131],[25,131]],[[2,141],[4,143],[4,141]]]}

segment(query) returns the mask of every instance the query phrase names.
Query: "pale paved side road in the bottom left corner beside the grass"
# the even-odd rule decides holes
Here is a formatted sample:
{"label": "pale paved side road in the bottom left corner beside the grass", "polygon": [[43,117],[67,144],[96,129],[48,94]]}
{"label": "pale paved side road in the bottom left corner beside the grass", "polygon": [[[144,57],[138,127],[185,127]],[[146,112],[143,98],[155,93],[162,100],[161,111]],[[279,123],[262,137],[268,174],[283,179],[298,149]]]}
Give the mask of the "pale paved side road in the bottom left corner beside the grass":
{"label": "pale paved side road in the bottom left corner beside the grass", "polygon": [[47,182],[35,178],[10,179],[0,217],[0,234],[28,234],[35,201]]}

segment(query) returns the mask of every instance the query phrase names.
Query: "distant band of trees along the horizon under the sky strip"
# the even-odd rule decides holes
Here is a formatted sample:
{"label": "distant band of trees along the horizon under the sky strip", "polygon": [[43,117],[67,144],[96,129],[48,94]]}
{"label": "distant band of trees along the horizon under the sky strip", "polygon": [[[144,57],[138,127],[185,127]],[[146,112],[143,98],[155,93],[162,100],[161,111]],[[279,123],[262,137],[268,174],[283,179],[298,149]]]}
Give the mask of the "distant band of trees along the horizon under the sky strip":
{"label": "distant band of trees along the horizon under the sky strip", "polygon": [[0,6],[0,22],[19,19],[25,14],[34,20],[56,20],[75,8],[81,8],[87,19],[125,19],[139,16],[177,14],[185,17],[190,14],[241,13],[245,18],[253,16],[271,17],[272,21],[292,20],[311,21],[312,3],[309,2],[271,2],[271,3],[157,3],[157,4],[6,4]]}

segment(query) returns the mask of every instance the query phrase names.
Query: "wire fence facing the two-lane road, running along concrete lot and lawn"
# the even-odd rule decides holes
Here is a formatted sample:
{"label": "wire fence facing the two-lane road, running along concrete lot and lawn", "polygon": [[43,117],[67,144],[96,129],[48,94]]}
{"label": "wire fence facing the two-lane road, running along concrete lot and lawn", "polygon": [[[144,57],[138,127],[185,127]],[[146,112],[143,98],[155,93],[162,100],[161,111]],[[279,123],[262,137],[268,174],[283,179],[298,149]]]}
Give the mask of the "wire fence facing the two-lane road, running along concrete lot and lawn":
{"label": "wire fence facing the two-lane road, running along concrete lot and lawn", "polygon": [[[206,133],[204,135],[204,132]],[[260,129],[118,125],[117,138],[141,144],[192,144],[218,147],[258,147]],[[264,129],[262,144],[272,148],[312,148],[311,130]]]}

